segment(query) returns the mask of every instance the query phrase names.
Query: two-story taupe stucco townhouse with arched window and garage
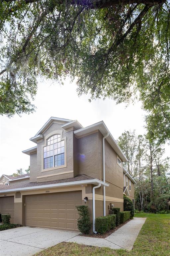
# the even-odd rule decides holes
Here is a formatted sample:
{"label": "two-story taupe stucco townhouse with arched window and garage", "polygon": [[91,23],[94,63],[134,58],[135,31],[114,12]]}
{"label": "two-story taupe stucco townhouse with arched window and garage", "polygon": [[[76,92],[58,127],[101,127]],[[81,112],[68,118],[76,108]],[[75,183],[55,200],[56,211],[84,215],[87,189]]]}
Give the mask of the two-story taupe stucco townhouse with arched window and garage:
{"label": "two-story taupe stucco townhouse with arched window and garage", "polygon": [[13,203],[15,223],[77,231],[76,206],[86,204],[95,232],[95,218],[107,215],[110,203],[123,210],[125,176],[134,199],[135,181],[123,169],[127,158],[103,121],[83,128],[51,117],[30,140],[36,146],[23,151],[30,156],[29,179],[0,189],[0,212],[4,201],[8,208]]}

